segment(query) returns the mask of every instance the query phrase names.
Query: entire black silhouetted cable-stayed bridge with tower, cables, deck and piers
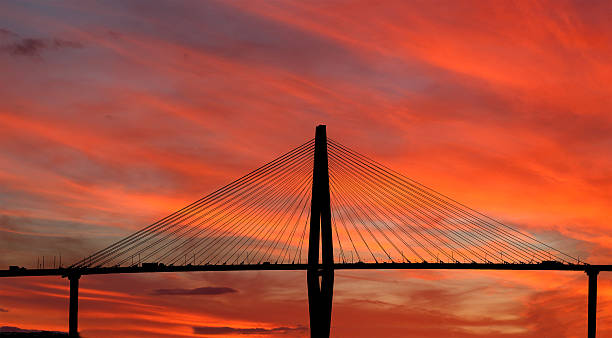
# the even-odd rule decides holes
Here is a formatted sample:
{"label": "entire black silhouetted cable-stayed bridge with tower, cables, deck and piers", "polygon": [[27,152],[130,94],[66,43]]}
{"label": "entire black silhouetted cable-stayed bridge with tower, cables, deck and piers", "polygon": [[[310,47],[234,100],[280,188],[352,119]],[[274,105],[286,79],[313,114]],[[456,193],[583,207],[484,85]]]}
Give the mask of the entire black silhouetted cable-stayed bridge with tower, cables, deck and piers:
{"label": "entire black silhouetted cable-stayed bridge with tower, cables, deck and piers", "polygon": [[590,265],[481,214],[341,143],[315,138],[69,267],[0,270],[0,277],[70,281],[69,335],[78,336],[84,275],[305,270],[311,337],[329,337],[334,270],[582,271],[587,336],[596,334]]}

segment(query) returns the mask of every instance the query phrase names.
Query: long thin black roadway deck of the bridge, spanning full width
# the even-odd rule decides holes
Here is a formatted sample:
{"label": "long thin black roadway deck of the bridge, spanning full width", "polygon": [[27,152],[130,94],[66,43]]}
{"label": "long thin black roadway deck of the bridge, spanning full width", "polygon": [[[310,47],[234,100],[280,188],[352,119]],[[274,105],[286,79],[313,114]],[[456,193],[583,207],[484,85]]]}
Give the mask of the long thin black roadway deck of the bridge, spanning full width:
{"label": "long thin black roadway deck of the bridge, spanning full width", "polygon": [[[83,269],[18,269],[0,270],[0,277],[105,275],[118,273],[188,272],[188,271],[292,271],[307,270],[308,264],[250,265],[184,265],[184,266],[118,266]],[[612,265],[589,264],[499,264],[499,263],[338,263],[335,270],[525,270],[525,271],[612,271]]]}

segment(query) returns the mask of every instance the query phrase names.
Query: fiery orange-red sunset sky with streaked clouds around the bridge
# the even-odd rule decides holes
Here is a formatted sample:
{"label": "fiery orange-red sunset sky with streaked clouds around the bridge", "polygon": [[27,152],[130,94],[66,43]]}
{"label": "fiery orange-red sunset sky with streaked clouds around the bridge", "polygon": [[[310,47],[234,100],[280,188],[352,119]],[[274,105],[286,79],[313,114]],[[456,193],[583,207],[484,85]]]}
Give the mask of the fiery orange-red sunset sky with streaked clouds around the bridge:
{"label": "fiery orange-red sunset sky with streaked clouds around the bridge", "polygon": [[[610,1],[2,1],[0,269],[69,264],[314,137],[612,263]],[[51,263],[52,264],[52,263]],[[332,337],[584,337],[578,272],[336,272]],[[308,336],[305,272],[85,276],[84,337]],[[612,337],[612,273],[598,337]],[[68,282],[0,279],[66,331]]]}

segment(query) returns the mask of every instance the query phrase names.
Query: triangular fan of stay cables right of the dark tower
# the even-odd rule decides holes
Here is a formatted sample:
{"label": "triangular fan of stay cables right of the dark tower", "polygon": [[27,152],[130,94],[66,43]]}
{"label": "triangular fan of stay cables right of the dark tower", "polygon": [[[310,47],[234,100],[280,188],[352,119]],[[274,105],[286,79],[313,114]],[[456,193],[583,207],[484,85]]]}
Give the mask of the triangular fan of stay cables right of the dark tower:
{"label": "triangular fan of stay cables right of the dark tower", "polygon": [[578,261],[328,139],[336,261]]}

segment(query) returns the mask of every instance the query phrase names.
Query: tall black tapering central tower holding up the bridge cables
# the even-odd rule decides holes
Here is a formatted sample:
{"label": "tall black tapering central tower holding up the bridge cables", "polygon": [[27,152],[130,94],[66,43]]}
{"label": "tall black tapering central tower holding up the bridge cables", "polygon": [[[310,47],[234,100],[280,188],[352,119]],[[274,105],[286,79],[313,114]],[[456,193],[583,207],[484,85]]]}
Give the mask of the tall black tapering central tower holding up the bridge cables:
{"label": "tall black tapering central tower holding up the bridge cables", "polygon": [[[321,261],[319,261],[319,243],[321,244]],[[329,338],[334,291],[334,248],[332,245],[325,125],[317,126],[315,133],[306,280],[308,283],[310,337]]]}

